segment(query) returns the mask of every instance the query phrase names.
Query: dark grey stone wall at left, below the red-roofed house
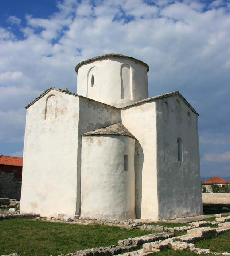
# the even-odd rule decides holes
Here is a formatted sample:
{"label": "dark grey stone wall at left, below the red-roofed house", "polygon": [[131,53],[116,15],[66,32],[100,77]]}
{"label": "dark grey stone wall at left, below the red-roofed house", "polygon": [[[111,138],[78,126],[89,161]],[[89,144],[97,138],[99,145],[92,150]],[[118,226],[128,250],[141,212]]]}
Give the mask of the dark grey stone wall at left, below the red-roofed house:
{"label": "dark grey stone wall at left, below the red-roofed house", "polygon": [[13,173],[0,172],[0,197],[20,200],[21,182],[13,181]]}

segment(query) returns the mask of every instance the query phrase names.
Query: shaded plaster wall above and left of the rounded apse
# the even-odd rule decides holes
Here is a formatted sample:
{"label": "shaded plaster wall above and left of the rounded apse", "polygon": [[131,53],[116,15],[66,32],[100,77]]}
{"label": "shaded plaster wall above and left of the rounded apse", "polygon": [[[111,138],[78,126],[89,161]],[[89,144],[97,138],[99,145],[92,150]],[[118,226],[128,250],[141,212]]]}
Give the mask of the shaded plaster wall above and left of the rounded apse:
{"label": "shaded plaster wall above and left of the rounded apse", "polygon": [[81,134],[120,122],[120,112],[117,108],[99,102],[80,98],[78,125],[78,178],[76,214],[81,213]]}

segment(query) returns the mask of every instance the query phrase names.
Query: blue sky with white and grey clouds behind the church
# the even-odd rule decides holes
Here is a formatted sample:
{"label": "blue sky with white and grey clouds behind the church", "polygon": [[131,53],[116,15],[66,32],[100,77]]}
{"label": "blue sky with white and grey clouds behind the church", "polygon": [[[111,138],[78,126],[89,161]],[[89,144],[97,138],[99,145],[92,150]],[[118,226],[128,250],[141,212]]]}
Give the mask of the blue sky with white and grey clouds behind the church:
{"label": "blue sky with white and grey clouds behind the church", "polygon": [[149,97],[178,90],[198,118],[202,176],[230,176],[230,1],[0,3],[0,154],[22,156],[24,107],[106,53],[147,63]]}

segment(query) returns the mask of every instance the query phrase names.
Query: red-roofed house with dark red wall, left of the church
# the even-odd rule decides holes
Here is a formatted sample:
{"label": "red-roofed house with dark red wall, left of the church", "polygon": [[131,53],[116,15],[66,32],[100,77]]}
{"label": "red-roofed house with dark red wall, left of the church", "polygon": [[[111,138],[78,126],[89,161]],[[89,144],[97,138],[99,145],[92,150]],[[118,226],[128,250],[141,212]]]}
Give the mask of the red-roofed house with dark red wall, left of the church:
{"label": "red-roofed house with dark red wall, left of the church", "polygon": [[0,171],[4,173],[14,173],[14,178],[17,181],[22,181],[22,157],[10,157],[0,155]]}

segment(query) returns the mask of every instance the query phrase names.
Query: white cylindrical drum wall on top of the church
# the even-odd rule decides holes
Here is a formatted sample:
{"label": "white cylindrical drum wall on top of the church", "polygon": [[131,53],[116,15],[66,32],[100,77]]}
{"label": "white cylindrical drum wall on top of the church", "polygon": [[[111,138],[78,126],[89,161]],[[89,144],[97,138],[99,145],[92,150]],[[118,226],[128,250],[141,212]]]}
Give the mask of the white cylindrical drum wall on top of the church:
{"label": "white cylindrical drum wall on top of the church", "polygon": [[[130,70],[127,66],[123,66],[122,71],[124,64],[128,65]],[[122,76],[125,76],[123,82]],[[122,83],[124,83],[123,96]],[[83,64],[78,70],[77,94],[112,106],[125,106],[148,98],[147,67],[133,60],[118,57]]]}

